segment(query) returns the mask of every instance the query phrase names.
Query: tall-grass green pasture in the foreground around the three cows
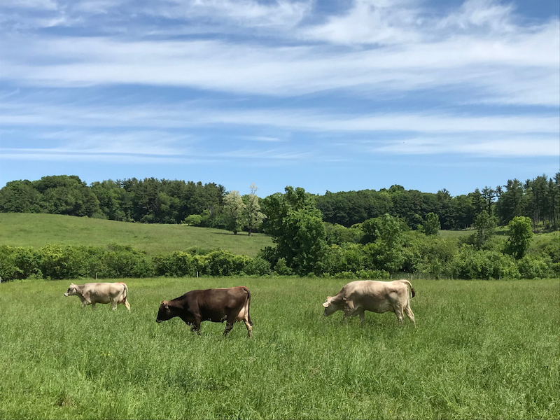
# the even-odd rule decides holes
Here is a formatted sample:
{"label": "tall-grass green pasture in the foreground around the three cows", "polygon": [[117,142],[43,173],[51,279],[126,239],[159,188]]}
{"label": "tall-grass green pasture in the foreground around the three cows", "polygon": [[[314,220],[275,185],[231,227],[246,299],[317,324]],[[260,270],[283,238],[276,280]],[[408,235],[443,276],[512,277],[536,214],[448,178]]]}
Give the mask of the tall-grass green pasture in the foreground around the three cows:
{"label": "tall-grass green pasture in the foreground around the three cows", "polygon": [[[560,284],[414,281],[417,328],[342,322],[335,279],[129,279],[120,305],[81,310],[70,281],[0,284],[2,419],[558,419]],[[162,299],[244,285],[236,324],[155,316]]]}

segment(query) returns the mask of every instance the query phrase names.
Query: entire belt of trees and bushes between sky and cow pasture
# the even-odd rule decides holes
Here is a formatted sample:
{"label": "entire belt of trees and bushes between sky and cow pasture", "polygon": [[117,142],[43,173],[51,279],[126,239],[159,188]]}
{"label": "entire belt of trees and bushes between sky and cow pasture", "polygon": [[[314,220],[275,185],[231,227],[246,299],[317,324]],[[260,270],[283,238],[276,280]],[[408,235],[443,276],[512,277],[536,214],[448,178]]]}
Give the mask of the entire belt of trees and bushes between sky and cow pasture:
{"label": "entire belt of trees and bushes between sky and cow pasture", "polygon": [[[391,186],[312,195],[286,187],[260,199],[214,183],[127,179],[87,186],[77,176],[11,181],[0,211],[43,212],[140,223],[184,223],[265,232],[274,246],[255,258],[218,250],[181,250],[148,257],[111,244],[0,245],[3,279],[127,276],[276,275],[388,278],[516,279],[560,276],[560,173],[517,179],[451,197]],[[507,226],[500,230],[498,225]],[[440,230],[472,227],[442,237]],[[555,231],[542,235],[536,231]],[[505,234],[505,235],[504,235]]]}

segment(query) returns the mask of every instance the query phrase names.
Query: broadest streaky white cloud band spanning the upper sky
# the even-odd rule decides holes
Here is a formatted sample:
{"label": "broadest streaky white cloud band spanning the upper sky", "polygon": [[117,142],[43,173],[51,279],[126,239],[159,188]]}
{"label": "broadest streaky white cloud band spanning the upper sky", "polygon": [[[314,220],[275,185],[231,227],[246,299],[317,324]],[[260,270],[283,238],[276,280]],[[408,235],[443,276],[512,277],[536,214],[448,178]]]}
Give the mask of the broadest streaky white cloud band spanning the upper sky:
{"label": "broadest streaky white cloud band spanning the upper sky", "polygon": [[503,97],[506,103],[554,106],[560,89],[560,41],[555,36],[559,28],[554,22],[532,34],[493,41],[460,36],[342,52],[311,45],[13,36],[0,49],[0,78],[29,86],[125,83],[275,96],[333,89],[384,94],[470,85],[472,102],[499,102]]}

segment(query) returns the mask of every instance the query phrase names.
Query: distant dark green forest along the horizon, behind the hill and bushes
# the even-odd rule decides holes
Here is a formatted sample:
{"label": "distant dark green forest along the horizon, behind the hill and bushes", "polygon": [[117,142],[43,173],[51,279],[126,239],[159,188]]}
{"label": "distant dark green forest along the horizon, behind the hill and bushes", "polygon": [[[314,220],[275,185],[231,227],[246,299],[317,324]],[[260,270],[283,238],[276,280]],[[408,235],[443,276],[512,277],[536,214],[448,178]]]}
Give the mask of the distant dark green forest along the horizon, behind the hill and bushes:
{"label": "distant dark green forest along the horizon, behind the hill and bushes", "polygon": [[[231,206],[250,205],[255,190],[253,187],[251,194],[240,197],[238,192],[231,192],[237,193],[236,196],[228,197],[231,193],[216,183],[132,178],[88,186],[78,176],[43,176],[36,181],[6,183],[0,190],[0,211],[230,228]],[[504,186],[485,186],[455,197],[445,189],[435,194],[422,193],[398,185],[379,191],[327,191],[314,197],[314,205],[321,211],[324,222],[346,228],[390,214],[416,230],[431,213],[437,215],[442,229],[459,230],[472,226],[482,211],[495,216],[498,225],[507,225],[516,216],[526,216],[531,218],[535,232],[560,228],[560,172],[554,179],[544,174],[525,182],[510,179]],[[258,201],[262,203],[262,199]],[[247,229],[247,225],[258,229],[251,223],[233,225],[235,230]]]}

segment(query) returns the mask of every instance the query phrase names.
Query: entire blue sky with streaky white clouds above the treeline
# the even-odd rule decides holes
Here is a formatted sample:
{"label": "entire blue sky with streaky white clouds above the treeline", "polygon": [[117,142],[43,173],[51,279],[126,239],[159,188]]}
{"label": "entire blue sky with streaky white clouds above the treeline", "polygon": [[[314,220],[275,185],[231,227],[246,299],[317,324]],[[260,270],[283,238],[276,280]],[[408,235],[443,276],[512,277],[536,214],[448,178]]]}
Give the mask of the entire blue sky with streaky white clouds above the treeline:
{"label": "entire blue sky with streaky white clouds above the treeline", "polygon": [[451,195],[560,170],[552,1],[2,0],[0,186]]}

